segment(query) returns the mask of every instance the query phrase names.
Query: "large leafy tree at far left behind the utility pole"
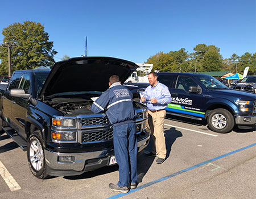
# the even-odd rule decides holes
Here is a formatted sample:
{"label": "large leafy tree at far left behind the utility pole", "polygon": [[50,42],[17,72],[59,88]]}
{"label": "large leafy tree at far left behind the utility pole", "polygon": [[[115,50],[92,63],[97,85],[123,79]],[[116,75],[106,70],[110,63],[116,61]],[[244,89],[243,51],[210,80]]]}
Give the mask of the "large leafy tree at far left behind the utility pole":
{"label": "large leafy tree at far left behind the utility pole", "polygon": [[[49,42],[47,32],[40,23],[26,21],[14,23],[3,28],[3,42],[18,45],[11,51],[12,71],[20,69],[34,69],[38,66],[52,67],[55,63],[53,56],[57,53],[53,42]],[[8,54],[6,47],[0,47],[0,73],[8,72]]]}

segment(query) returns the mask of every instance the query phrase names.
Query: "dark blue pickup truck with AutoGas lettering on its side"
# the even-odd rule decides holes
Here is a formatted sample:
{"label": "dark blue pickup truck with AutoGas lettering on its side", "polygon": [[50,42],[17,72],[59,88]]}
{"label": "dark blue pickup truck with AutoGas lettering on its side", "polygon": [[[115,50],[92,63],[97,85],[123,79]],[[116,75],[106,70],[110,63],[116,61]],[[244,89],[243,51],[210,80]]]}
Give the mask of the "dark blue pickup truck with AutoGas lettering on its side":
{"label": "dark blue pickup truck with AutoGas lettering on its side", "polygon": [[[256,123],[256,96],[231,90],[216,78],[197,73],[158,73],[158,81],[170,89],[172,102],[167,114],[192,119],[206,119],[213,131],[226,133],[234,125],[254,126]],[[133,93],[145,85],[127,85]],[[136,88],[138,86],[138,88]]]}

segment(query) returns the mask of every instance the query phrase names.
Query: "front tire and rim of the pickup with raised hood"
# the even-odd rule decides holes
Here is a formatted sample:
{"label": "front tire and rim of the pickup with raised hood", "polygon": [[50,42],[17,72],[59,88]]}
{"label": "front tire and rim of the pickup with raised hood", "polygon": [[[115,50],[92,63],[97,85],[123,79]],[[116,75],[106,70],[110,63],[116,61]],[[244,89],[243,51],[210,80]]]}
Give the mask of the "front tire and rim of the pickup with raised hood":
{"label": "front tire and rim of the pickup with raised hood", "polygon": [[46,173],[46,159],[40,131],[32,132],[28,138],[27,160],[34,176],[39,179],[47,179],[49,177]]}

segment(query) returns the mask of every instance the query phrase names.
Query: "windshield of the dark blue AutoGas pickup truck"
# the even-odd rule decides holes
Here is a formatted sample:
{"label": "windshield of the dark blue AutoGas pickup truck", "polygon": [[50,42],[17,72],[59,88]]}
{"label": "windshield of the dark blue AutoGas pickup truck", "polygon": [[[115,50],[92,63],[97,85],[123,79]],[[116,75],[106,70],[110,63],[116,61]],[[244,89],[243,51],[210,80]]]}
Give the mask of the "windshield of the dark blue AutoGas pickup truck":
{"label": "windshield of the dark blue AutoGas pickup truck", "polygon": [[216,78],[208,75],[195,76],[207,89],[229,89]]}

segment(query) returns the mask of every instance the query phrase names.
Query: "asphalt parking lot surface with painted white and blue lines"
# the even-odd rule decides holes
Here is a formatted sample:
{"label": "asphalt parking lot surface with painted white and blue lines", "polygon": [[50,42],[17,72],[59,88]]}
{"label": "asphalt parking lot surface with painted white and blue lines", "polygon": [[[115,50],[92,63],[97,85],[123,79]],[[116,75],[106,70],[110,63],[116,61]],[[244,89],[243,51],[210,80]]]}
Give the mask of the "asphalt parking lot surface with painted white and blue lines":
{"label": "asphalt parking lot surface with painted white and blue lines", "polygon": [[[210,131],[204,122],[166,119],[167,159],[138,157],[137,189],[118,194],[118,166],[80,176],[36,179],[23,152],[0,132],[0,198],[255,198],[256,128]],[[151,144],[146,150],[150,151]]]}

